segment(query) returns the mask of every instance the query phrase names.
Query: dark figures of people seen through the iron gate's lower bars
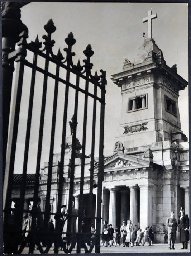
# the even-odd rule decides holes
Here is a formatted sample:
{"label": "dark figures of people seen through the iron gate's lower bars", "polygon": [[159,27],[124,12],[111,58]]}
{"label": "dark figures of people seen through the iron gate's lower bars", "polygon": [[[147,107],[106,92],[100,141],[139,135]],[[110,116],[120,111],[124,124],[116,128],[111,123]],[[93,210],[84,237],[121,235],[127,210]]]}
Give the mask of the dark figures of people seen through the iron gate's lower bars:
{"label": "dark figures of people seen through the iron gate's lower bars", "polygon": [[[24,215],[23,220],[23,227],[22,227],[22,240],[20,243],[20,247],[18,250],[18,253],[21,253],[23,251],[23,248],[26,245],[29,245],[31,242],[36,245],[40,253],[48,253],[49,249],[51,248],[52,244],[54,243],[54,246],[57,246],[58,248],[61,248],[65,253],[68,252],[67,245],[70,245],[72,236],[75,236],[75,233],[77,231],[77,215],[78,210],[74,208],[74,202],[72,202],[72,217],[71,217],[71,227],[70,227],[70,233],[71,235],[64,235],[63,234],[63,228],[65,226],[65,222],[68,219],[68,210],[66,209],[66,205],[62,205],[60,210],[54,215],[54,219],[58,222],[58,230],[57,234],[55,233],[55,228],[53,224],[53,220],[49,220],[48,226],[47,226],[47,232],[46,237],[42,236],[43,231],[43,218],[40,208],[41,200],[38,199],[37,203],[37,209],[35,214],[35,236],[32,236],[31,227],[32,227],[32,214],[31,210],[34,211],[32,206],[29,207],[29,213]],[[65,237],[65,241],[63,241],[63,236]],[[46,249],[43,251],[42,246],[45,246]]]}

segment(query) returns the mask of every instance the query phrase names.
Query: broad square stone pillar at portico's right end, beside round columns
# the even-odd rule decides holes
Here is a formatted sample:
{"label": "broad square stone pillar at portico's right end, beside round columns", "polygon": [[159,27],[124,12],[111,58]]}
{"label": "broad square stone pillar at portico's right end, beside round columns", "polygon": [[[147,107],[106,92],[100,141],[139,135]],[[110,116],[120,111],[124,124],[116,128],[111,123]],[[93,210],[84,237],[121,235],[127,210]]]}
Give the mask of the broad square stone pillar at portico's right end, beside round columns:
{"label": "broad square stone pillar at portico's right end, beside round columns", "polygon": [[151,226],[153,222],[153,201],[152,201],[152,185],[139,185],[140,188],[140,228],[144,229]]}

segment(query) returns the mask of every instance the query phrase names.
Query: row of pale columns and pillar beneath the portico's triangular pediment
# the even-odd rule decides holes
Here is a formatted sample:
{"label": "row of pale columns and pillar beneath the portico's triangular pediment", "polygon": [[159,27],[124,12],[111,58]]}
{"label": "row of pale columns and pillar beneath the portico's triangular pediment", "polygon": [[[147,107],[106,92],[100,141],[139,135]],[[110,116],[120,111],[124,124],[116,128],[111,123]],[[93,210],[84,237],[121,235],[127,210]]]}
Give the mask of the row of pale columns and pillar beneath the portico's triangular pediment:
{"label": "row of pale columns and pillar beneath the portico's triangular pediment", "polygon": [[[112,224],[112,226],[115,227],[117,224],[116,217],[118,215],[118,218],[120,218],[120,225],[123,221],[127,222],[128,219],[131,219],[132,223],[137,225],[137,227],[144,228],[146,226],[152,225],[153,186],[147,184],[139,186],[129,186],[128,188],[129,189],[127,189],[126,187],[108,188],[109,193],[106,193],[106,191],[108,191],[107,189],[103,189],[102,220],[107,220],[108,224]],[[117,191],[119,191],[119,193],[121,194],[120,208],[117,207],[117,205],[119,205],[119,203],[117,202]]]}

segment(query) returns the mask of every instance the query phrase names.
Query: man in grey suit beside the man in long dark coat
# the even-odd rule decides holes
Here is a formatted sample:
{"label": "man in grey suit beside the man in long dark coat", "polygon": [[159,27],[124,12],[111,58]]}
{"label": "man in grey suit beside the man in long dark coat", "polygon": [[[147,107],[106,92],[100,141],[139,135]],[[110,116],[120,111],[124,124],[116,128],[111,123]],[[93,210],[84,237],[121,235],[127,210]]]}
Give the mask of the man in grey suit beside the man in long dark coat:
{"label": "man in grey suit beside the man in long dark coat", "polygon": [[175,219],[175,212],[171,211],[171,216],[167,218],[166,225],[168,226],[168,249],[175,249],[175,240],[176,240],[176,230],[177,230],[177,222]]}

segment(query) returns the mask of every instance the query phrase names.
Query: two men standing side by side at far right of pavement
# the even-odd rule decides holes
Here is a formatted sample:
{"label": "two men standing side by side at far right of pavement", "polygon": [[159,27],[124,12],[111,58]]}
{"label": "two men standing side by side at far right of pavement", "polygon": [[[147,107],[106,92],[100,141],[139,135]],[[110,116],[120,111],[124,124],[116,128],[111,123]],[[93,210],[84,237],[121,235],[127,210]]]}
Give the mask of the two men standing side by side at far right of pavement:
{"label": "two men standing side by side at far right of pavement", "polygon": [[168,226],[168,249],[175,250],[176,230],[179,227],[180,242],[182,243],[181,249],[188,249],[189,241],[189,217],[184,212],[184,208],[180,207],[180,214],[178,215],[178,222],[175,219],[175,212],[171,211],[171,215],[166,220]]}

